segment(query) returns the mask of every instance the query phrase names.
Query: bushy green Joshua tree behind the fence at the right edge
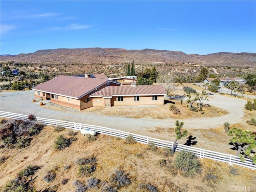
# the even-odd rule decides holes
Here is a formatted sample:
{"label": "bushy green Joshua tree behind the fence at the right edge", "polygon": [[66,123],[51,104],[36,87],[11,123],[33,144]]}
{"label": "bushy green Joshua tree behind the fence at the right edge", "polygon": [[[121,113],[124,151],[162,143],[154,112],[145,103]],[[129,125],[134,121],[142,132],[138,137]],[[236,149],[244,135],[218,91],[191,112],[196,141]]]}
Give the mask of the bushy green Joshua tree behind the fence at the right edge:
{"label": "bushy green Joshua tree behind the fence at the right edge", "polygon": [[232,136],[230,142],[232,142],[238,150],[236,156],[239,156],[242,162],[246,157],[256,164],[256,153],[252,151],[256,147],[255,134],[252,134],[252,131],[249,130],[233,128],[228,130],[228,136]]}

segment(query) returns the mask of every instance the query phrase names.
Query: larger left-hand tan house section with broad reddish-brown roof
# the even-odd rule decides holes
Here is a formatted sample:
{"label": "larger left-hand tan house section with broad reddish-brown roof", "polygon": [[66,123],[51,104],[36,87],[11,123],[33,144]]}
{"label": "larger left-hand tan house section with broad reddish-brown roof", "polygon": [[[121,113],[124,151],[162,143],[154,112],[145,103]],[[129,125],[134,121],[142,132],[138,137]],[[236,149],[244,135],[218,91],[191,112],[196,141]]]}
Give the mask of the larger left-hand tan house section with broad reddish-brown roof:
{"label": "larger left-hand tan house section with broad reddish-brown roof", "polygon": [[52,103],[82,110],[92,107],[89,95],[106,86],[120,86],[120,83],[108,79],[56,76],[32,90],[37,99],[51,100]]}

